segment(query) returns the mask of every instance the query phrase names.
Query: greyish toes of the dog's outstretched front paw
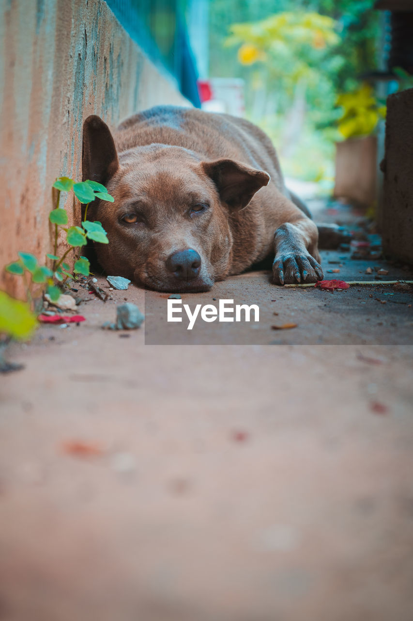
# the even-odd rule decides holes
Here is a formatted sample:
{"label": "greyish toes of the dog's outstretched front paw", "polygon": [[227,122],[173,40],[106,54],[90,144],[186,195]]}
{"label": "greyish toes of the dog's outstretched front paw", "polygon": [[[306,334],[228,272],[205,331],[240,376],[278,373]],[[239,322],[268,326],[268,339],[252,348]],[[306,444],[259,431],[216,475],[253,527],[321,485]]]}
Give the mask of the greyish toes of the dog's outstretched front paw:
{"label": "greyish toes of the dog's outstretched front paw", "polygon": [[275,284],[316,283],[324,278],[321,265],[309,253],[278,254],[272,273]]}

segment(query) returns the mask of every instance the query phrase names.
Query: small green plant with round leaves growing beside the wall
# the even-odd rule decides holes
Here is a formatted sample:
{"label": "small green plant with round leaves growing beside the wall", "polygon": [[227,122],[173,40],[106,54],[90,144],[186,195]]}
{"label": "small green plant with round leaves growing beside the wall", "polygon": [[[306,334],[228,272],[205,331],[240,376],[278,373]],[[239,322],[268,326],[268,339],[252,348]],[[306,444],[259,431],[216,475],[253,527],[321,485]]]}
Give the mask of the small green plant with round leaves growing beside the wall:
{"label": "small green plant with round leaves growing beside the wall", "polygon": [[[70,266],[64,260],[73,252],[74,258],[74,274],[81,274],[82,276],[89,276],[89,260],[86,256],[76,255],[79,248],[86,244],[87,239],[94,240],[100,243],[109,243],[106,232],[100,222],[91,222],[86,220],[87,208],[89,203],[99,198],[102,201],[113,202],[113,197],[107,193],[107,189],[96,181],[81,181],[80,183],[74,183],[73,179],[68,177],[60,177],[56,179],[53,184],[53,188],[57,190],[56,207],[49,214],[49,220],[55,227],[55,236],[53,244],[53,254],[47,253],[46,257],[50,260],[51,268],[46,265],[39,265],[38,260],[34,255],[27,252],[19,252],[19,260],[9,263],[6,266],[6,271],[17,276],[22,276],[26,299],[29,302],[30,307],[33,306],[33,293],[35,285],[40,285],[43,288],[47,285],[47,293],[52,301],[56,301],[60,296],[60,288],[56,284],[64,284],[68,278],[72,278],[70,273]],[[65,227],[68,224],[68,214],[63,207],[60,207],[60,194],[61,192],[69,192],[73,189],[74,195],[79,202],[86,204],[84,220],[82,227],[71,226]],[[64,230],[66,233],[66,243],[69,248],[62,256],[57,256],[58,250],[58,235],[59,231]]]}

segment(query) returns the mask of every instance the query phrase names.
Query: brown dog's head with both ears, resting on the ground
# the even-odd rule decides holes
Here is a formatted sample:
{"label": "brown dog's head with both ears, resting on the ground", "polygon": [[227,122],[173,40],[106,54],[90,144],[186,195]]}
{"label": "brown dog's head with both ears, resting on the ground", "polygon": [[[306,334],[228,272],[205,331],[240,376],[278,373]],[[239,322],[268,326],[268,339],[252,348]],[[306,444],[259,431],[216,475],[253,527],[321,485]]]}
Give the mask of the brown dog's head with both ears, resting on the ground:
{"label": "brown dog's head with both ears, resting on the ground", "polygon": [[202,161],[183,147],[153,143],[118,155],[107,125],[86,119],[83,179],[104,184],[97,199],[109,245],[95,244],[107,273],[158,291],[208,291],[231,260],[229,214],[243,209],[269,175],[233,160]]}

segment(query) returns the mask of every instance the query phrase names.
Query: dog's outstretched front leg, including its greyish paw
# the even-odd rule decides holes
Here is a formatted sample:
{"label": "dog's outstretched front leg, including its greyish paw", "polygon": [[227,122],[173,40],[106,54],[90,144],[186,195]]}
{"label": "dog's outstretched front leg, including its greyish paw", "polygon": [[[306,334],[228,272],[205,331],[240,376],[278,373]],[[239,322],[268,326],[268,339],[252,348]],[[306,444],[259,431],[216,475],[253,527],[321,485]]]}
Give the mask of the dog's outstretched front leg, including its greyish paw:
{"label": "dog's outstretched front leg, including its greyish paw", "polygon": [[275,259],[272,265],[275,284],[315,283],[321,280],[323,273],[317,242],[316,224],[309,218],[303,218],[302,214],[278,227],[274,235]]}

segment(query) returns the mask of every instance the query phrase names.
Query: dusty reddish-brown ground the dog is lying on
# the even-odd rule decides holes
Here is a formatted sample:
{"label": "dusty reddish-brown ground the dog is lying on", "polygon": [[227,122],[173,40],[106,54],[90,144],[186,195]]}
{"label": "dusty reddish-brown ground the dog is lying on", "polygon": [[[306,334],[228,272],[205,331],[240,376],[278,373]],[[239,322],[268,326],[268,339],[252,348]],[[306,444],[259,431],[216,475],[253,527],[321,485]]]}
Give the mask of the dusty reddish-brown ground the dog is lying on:
{"label": "dusty reddish-brown ground the dog is lying on", "polygon": [[[326,278],[383,266],[409,278],[323,253]],[[9,351],[0,619],[411,621],[412,293],[249,273],[182,301],[259,324],[178,337],[164,294],[111,293]],[[144,327],[100,329],[125,299]],[[167,344],[190,342],[213,344]]]}

